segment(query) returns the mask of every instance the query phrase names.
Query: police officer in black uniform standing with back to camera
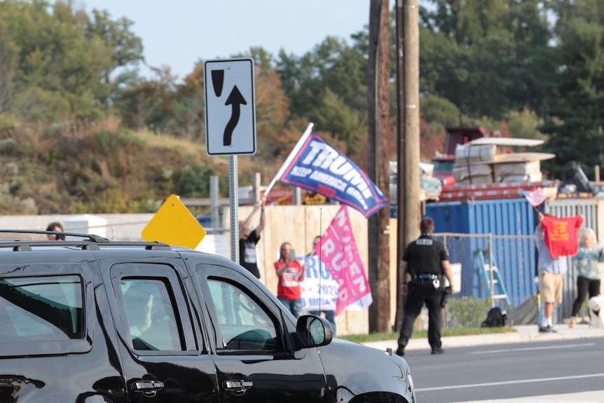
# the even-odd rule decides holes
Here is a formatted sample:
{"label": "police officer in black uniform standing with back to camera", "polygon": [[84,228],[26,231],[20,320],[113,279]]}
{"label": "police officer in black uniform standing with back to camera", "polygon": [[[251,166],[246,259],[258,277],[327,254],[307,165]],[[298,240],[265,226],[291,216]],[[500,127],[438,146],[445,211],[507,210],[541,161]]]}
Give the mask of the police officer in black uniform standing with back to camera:
{"label": "police officer in black uniform standing with back to camera", "polygon": [[[444,285],[443,275],[451,285],[453,292],[453,277],[449,266],[448,252],[444,245],[432,239],[434,220],[425,217],[420,221],[420,238],[406,248],[401,260],[403,273],[402,294],[406,296],[403,324],[399,336],[397,355],[403,356],[405,346],[413,333],[413,322],[420,314],[423,304],[428,308],[428,343],[432,354],[442,354],[441,343],[441,299]],[[407,284],[409,273],[409,284]]]}

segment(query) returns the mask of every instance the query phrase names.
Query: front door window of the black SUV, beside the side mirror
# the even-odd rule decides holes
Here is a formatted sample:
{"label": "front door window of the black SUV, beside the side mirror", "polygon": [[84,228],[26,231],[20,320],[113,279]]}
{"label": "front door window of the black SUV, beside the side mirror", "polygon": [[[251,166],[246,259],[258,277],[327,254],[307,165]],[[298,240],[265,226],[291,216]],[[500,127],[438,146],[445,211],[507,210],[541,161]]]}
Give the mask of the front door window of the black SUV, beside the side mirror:
{"label": "front door window of the black SUV, beside the side mirror", "polygon": [[224,280],[209,279],[207,285],[216,310],[217,326],[222,335],[222,348],[226,350],[281,348],[275,322],[252,296]]}

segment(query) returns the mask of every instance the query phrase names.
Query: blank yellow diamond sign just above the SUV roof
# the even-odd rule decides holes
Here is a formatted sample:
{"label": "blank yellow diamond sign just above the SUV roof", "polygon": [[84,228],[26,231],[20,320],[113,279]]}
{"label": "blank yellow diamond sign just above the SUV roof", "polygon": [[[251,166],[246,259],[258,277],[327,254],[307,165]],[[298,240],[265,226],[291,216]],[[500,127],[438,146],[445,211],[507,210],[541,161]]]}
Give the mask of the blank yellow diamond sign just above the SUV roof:
{"label": "blank yellow diamond sign just above the SUV roof", "polygon": [[141,232],[146,241],[195,249],[205,237],[205,229],[178,196],[170,195]]}

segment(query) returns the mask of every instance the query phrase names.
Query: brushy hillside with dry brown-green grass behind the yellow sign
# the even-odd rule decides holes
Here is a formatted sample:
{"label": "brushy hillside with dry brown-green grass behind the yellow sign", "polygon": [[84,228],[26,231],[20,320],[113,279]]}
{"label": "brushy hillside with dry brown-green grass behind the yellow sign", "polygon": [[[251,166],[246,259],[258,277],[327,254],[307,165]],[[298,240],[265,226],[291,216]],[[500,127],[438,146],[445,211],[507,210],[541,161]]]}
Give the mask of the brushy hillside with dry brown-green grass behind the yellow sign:
{"label": "brushy hillside with dry brown-green grass behind the yellow sign", "polygon": [[[207,156],[200,142],[132,132],[114,118],[8,126],[0,130],[0,214],[155,212],[172,193],[208,197],[212,175],[228,196],[228,157]],[[238,158],[240,184],[251,184],[256,164]],[[263,175],[277,169],[262,164]]]}

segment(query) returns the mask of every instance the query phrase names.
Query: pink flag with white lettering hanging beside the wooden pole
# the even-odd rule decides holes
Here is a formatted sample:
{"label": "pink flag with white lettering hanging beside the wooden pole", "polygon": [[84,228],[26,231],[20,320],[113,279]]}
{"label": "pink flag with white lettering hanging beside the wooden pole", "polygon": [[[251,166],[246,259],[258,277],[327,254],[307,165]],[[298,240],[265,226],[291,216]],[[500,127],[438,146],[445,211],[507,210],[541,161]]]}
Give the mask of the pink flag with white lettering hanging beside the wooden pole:
{"label": "pink flag with white lettering hanging beside the wooden pole", "polygon": [[359,299],[364,299],[366,302],[364,306],[371,304],[369,281],[357,250],[355,235],[352,233],[348,209],[345,205],[340,207],[336,217],[331,220],[321,242],[317,244],[315,253],[319,255],[340,286],[336,315]]}

